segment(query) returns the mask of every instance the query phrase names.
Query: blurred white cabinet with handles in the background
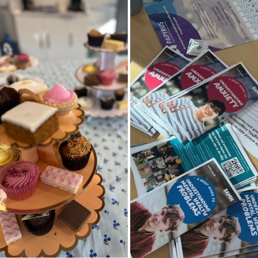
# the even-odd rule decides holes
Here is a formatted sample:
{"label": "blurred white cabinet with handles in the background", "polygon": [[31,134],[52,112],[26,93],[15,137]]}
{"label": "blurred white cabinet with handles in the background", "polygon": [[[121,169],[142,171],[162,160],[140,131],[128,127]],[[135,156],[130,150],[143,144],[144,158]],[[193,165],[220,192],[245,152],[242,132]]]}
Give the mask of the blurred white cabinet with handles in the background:
{"label": "blurred white cabinet with handles in the background", "polygon": [[86,56],[87,17],[83,14],[15,15],[20,51],[39,60]]}

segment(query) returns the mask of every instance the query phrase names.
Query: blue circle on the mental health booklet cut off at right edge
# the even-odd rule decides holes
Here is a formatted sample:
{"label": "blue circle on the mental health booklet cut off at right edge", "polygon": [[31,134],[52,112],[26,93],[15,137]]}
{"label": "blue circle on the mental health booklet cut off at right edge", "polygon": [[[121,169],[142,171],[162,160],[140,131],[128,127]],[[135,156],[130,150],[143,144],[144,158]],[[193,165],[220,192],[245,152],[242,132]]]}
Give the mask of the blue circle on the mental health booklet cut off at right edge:
{"label": "blue circle on the mental health booklet cut off at right edge", "polygon": [[238,218],[241,227],[239,239],[258,242],[258,193],[241,193],[241,200],[230,205],[227,214]]}

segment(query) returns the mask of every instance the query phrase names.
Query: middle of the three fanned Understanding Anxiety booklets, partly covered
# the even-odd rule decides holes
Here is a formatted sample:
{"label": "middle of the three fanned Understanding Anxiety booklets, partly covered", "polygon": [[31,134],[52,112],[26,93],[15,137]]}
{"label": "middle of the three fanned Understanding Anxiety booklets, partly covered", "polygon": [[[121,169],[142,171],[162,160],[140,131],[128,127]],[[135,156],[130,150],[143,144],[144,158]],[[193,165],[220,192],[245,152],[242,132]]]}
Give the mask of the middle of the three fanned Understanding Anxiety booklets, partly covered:
{"label": "middle of the three fanned Understanding Anxiety booklets, partly covered", "polygon": [[[228,68],[228,66],[211,50],[204,51],[180,72],[174,74],[169,80],[156,87],[155,90],[143,96],[139,100],[140,105],[137,106],[139,114],[141,114],[142,117],[146,117],[146,114],[141,113],[139,110],[142,109],[147,113],[147,115],[149,114],[148,117],[150,123],[152,123],[154,127],[156,126],[155,124],[158,124],[159,127],[162,127],[162,129],[165,130],[165,133],[156,126],[157,131],[159,131],[164,137],[171,136],[173,131],[169,125],[166,126],[166,124],[164,124],[166,120],[163,119],[160,105],[168,99],[186,91],[190,87],[200,84],[206,79],[216,75],[225,68]],[[154,118],[154,123],[151,118]]]}

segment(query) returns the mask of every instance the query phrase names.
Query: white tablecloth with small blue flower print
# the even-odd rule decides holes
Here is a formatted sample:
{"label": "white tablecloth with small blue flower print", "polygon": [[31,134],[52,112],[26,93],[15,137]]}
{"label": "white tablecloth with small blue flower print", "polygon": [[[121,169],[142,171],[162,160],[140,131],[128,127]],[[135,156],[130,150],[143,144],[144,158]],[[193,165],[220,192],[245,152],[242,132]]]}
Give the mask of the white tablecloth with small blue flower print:
{"label": "white tablecloth with small blue flower print", "polygon": [[[127,55],[118,55],[115,64],[126,59]],[[76,86],[82,86],[75,78],[76,69],[95,61],[94,58],[81,58],[40,62],[26,76],[40,78],[49,88],[60,83],[74,90]],[[79,240],[73,250],[62,251],[57,257],[128,257],[128,117],[84,119],[80,133],[96,151],[97,173],[102,176],[101,184],[106,191],[103,197],[105,206],[100,212],[99,223],[92,227],[91,235]],[[6,257],[5,253],[0,252],[0,257]]]}

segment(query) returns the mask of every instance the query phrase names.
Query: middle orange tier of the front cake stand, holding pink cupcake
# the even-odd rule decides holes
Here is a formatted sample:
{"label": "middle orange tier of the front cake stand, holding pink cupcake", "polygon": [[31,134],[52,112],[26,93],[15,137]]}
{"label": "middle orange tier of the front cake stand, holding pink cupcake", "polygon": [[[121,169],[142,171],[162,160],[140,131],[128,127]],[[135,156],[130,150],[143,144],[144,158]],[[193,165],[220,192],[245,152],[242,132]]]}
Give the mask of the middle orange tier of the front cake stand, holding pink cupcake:
{"label": "middle orange tier of the front cake stand, holding pink cupcake", "polygon": [[[21,159],[36,163],[39,167],[40,173],[42,173],[49,165],[66,169],[62,165],[61,156],[58,153],[58,143],[55,143],[53,147],[50,146],[38,149],[32,148],[22,151]],[[43,184],[39,178],[36,191],[31,197],[22,201],[10,199],[6,196],[5,192],[0,189],[0,210],[16,214],[27,214],[48,211],[65,205],[72,199],[76,198],[86,187],[88,187],[96,173],[96,169],[97,156],[94,148],[92,147],[90,159],[86,167],[82,170],[72,171],[83,176],[82,186],[76,194]]]}

